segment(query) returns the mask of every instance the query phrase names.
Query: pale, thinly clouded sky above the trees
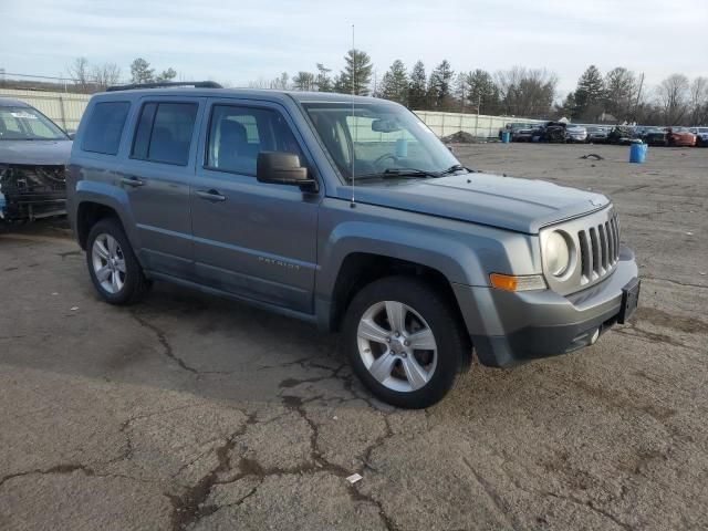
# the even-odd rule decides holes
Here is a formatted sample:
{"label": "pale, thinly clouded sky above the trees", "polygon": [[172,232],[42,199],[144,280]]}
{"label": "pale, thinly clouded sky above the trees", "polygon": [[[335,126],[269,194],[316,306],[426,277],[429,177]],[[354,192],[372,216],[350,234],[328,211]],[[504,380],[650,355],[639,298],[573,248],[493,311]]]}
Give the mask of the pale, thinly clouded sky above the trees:
{"label": "pale, thinly clouded sky above the trees", "polygon": [[60,75],[76,56],[136,56],[185,79],[244,85],[287,71],[343,65],[351,48],[377,75],[395,59],[427,72],[545,67],[575,86],[591,63],[623,65],[649,84],[680,72],[708,75],[707,0],[0,0],[0,69]]}

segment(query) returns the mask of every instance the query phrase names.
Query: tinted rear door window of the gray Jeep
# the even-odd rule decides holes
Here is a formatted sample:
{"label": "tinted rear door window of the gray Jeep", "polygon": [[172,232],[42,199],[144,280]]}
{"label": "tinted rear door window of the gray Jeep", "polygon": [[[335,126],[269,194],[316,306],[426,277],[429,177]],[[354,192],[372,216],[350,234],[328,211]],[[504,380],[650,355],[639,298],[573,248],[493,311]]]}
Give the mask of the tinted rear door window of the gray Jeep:
{"label": "tinted rear door window of the gray Jeep", "polygon": [[133,140],[133,158],[187,166],[196,103],[146,103]]}

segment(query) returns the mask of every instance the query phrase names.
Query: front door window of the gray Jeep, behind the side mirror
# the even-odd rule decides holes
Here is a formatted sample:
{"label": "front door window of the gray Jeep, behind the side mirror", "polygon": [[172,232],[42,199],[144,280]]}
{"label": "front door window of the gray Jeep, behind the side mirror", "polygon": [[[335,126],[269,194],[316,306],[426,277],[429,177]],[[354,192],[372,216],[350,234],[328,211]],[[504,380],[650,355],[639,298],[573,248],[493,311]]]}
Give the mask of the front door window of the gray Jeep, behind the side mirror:
{"label": "front door window of the gray Jeep, behind the side mirror", "polygon": [[300,146],[280,113],[268,108],[215,105],[207,167],[256,175],[260,152],[294,153],[304,163]]}

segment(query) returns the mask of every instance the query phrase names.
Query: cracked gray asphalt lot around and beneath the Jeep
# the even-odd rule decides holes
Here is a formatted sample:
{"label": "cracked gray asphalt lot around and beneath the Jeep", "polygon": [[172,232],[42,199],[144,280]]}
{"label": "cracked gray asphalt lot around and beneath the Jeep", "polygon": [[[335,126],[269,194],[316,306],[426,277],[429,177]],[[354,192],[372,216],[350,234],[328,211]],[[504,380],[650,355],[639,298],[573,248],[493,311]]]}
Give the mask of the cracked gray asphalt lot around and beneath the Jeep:
{"label": "cracked gray asphalt lot around and beneath the Jeep", "polygon": [[334,335],[160,283],[110,306],[61,221],[19,228],[0,235],[0,529],[708,528],[708,149],[455,150],[608,194],[634,323],[397,410]]}

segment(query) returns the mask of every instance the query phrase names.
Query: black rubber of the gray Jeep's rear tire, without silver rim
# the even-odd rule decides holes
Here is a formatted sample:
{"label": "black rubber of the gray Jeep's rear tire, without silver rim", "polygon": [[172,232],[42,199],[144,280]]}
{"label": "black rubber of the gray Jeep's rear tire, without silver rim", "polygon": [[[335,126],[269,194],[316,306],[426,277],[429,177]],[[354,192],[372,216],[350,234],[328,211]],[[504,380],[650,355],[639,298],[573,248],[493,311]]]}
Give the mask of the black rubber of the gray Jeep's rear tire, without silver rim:
{"label": "black rubber of the gray Jeep's rear tire, without silver rim", "polygon": [[[119,251],[125,262],[123,287],[115,293],[106,291],[106,289],[101,285],[101,281],[94,270],[93,247],[96,238],[102,235],[108,235],[118,242]],[[86,267],[88,268],[88,274],[91,275],[94,288],[102,299],[111,304],[123,305],[136,303],[145,296],[152,287],[152,281],[143,273],[143,268],[137,261],[135,252],[133,252],[133,247],[131,247],[131,242],[125,236],[121,222],[115,218],[103,218],[91,228],[86,240]]]}

